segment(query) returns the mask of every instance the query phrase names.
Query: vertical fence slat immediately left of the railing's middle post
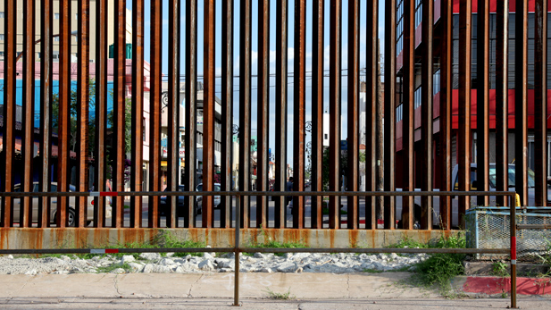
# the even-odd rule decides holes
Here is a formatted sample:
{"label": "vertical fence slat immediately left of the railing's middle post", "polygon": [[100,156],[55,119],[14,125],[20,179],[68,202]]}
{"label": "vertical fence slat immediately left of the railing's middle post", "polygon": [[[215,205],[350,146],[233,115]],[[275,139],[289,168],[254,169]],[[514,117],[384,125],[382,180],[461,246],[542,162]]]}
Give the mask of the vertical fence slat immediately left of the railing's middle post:
{"label": "vertical fence slat immediately left of the railing's middle post", "polygon": [[[233,175],[233,0],[222,1],[222,93],[221,93],[221,190],[232,190]],[[220,226],[231,227],[232,198],[221,197]],[[258,212],[258,211],[257,211]],[[267,226],[263,226],[267,227]]]}

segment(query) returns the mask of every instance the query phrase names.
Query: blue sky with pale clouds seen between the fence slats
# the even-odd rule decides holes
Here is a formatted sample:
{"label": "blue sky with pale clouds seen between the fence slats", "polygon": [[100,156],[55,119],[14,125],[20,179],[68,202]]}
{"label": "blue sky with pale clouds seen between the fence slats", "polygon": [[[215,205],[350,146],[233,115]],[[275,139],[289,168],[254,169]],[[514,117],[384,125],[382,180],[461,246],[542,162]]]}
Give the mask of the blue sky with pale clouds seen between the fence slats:
{"label": "blue sky with pale clouds seen between the fence slats", "polygon": [[[185,1],[182,0],[182,11],[181,11],[181,50],[186,51],[186,40],[185,40],[185,25],[186,25],[186,5]],[[204,1],[197,1],[197,26],[198,26],[198,38],[197,38],[197,69],[199,80],[202,79],[203,75],[203,25],[204,25]],[[252,4],[252,92],[251,92],[251,101],[252,101],[252,135],[256,135],[257,121],[256,121],[256,95],[257,95],[257,82],[256,82],[256,72],[257,72],[257,52],[258,52],[258,2],[251,1]],[[276,56],[276,4],[277,1],[271,1],[271,17],[270,17],[270,73],[275,74],[275,56]],[[168,27],[169,27],[169,14],[168,14],[168,0],[163,0],[163,73],[168,74]],[[216,75],[216,96],[221,97],[221,0],[216,1],[216,19],[215,19],[215,75]],[[234,73],[239,74],[239,2],[234,1]],[[360,13],[360,68],[365,68],[365,44],[366,44],[366,1],[361,1]],[[289,74],[293,71],[293,62],[294,62],[294,10],[295,2],[293,0],[288,1],[288,71]],[[343,80],[342,80],[342,128],[341,128],[341,139],[346,139],[346,68],[347,68],[347,6],[348,1],[342,1],[342,64],[341,68],[343,69]],[[129,10],[132,10],[131,2],[127,2],[127,7]],[[149,0],[145,1],[145,60],[150,61],[150,10],[151,3]],[[311,85],[311,72],[312,72],[312,0],[306,1],[306,121],[311,121],[312,113],[312,85]],[[384,7],[385,2],[380,1],[380,10],[379,10],[379,37],[384,38]],[[324,70],[326,74],[329,74],[329,52],[330,52],[330,0],[325,1],[325,31],[324,31]],[[384,53],[383,45],[381,42],[381,53]],[[181,66],[180,74],[184,75],[185,73],[185,54],[181,54]],[[361,80],[365,80],[365,71],[361,70]],[[272,153],[275,151],[275,79],[272,77],[270,80],[270,124],[269,124],[269,145],[271,147]],[[293,146],[292,146],[292,137],[293,137],[293,79],[292,75],[288,78],[288,163],[292,161]],[[239,109],[239,81],[238,79],[234,80],[234,124],[238,124],[238,109]],[[324,80],[324,111],[329,109],[329,79]],[[310,135],[306,135],[306,142],[309,141]]]}

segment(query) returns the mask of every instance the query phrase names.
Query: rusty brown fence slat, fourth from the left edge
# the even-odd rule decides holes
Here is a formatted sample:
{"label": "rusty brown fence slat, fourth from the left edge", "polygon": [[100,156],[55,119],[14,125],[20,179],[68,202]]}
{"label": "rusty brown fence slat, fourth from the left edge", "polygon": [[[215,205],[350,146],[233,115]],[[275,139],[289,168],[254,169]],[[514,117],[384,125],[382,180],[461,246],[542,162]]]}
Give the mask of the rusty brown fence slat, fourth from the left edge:
{"label": "rusty brown fence slat, fourth from the left edge", "polygon": [[[71,131],[71,3],[60,2],[59,95],[57,111],[57,191],[69,191],[69,134]],[[55,222],[65,227],[68,197],[57,197]]]}

